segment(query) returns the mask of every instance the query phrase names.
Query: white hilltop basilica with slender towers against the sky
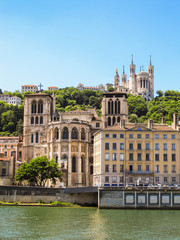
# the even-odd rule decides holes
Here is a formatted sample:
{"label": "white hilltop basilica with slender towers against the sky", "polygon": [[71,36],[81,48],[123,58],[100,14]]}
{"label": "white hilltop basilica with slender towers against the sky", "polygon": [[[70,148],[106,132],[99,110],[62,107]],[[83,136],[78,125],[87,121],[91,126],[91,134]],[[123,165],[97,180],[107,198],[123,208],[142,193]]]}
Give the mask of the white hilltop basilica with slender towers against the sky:
{"label": "white hilltop basilica with slender towers against the sky", "polygon": [[140,68],[140,72],[136,74],[136,65],[133,63],[133,56],[131,64],[129,65],[129,79],[124,71],[121,75],[121,84],[116,69],[116,75],[114,76],[114,89],[116,92],[131,93],[135,96],[141,95],[146,100],[154,98],[154,66],[150,64],[147,66],[147,72],[143,68]]}

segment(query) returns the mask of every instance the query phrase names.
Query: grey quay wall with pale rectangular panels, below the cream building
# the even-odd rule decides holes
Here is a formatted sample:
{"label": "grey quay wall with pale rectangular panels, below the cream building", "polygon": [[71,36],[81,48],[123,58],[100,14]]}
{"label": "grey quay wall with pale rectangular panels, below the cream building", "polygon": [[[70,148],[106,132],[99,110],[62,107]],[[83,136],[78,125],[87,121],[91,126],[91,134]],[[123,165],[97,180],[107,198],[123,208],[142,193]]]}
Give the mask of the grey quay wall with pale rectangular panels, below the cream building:
{"label": "grey quay wall with pale rectangular panels, below the cream building", "polygon": [[99,208],[180,209],[180,190],[99,189]]}

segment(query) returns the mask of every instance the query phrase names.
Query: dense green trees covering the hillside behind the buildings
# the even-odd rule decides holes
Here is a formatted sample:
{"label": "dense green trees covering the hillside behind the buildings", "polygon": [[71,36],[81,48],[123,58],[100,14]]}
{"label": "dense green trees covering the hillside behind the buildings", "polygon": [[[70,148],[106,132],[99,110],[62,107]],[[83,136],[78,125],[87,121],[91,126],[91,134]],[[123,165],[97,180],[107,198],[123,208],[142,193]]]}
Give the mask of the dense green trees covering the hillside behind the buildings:
{"label": "dense green trees covering the hillside behind the buildings", "polygon": [[[44,91],[52,95],[52,91]],[[4,94],[16,95],[22,99],[22,105],[14,106],[0,101],[0,135],[17,136],[23,130],[24,97],[31,92],[22,95],[19,92]],[[145,122],[151,118],[154,122],[160,123],[162,117],[166,117],[167,123],[171,124],[173,113],[180,115],[180,92],[178,91],[157,91],[158,96],[151,101],[144,100],[141,96],[128,95],[130,122]],[[55,91],[57,112],[67,112],[76,109],[88,110],[96,108],[99,116],[101,115],[101,101],[103,92],[83,90],[69,87]]]}

